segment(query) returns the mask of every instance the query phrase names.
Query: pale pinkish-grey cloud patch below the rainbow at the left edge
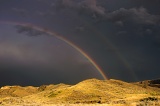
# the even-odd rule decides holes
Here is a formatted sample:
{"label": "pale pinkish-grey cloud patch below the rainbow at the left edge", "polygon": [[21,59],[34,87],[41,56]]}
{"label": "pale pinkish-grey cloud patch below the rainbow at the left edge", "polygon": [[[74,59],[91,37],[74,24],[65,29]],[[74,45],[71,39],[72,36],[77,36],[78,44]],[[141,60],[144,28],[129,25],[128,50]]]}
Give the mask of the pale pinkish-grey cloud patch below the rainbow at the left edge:
{"label": "pale pinkish-grey cloud patch below the rainbow at the left edge", "polygon": [[[43,56],[45,52],[38,53],[40,50],[38,50],[36,47],[31,47],[31,45],[27,46],[27,44],[24,45],[23,43],[21,45],[20,44],[14,44],[10,41],[1,42],[1,60],[3,60],[3,58],[10,59],[12,61],[18,62],[19,64],[44,64],[47,62],[47,58],[49,57],[47,55]],[[30,63],[31,61],[32,63]]]}

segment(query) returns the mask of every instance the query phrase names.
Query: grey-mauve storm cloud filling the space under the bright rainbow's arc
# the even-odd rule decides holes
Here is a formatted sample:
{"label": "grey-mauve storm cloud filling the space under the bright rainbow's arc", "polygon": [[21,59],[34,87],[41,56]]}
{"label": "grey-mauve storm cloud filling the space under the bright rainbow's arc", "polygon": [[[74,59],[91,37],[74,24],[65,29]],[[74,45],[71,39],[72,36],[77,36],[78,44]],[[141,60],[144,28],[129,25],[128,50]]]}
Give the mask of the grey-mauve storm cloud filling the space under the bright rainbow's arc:
{"label": "grey-mauve storm cloud filling the space under the bright rainbow's arc", "polygon": [[[73,48],[54,39],[52,42],[49,40],[38,42],[39,37],[43,36],[37,36],[33,42],[21,39],[22,42],[18,44],[14,42],[20,39],[14,42],[10,40],[0,42],[0,79],[4,81],[0,86],[6,84],[39,86],[60,82],[73,84],[82,79],[101,78],[94,66]],[[29,38],[29,41],[33,39]]]}

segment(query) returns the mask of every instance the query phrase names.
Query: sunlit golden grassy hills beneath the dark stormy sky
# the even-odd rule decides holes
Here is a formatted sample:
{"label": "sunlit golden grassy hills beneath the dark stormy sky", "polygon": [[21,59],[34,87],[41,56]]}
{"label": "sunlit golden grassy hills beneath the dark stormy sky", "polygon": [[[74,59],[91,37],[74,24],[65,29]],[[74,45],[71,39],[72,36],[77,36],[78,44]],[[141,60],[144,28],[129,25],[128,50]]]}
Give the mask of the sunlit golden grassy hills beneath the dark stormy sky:
{"label": "sunlit golden grassy hills beneath the dark stormy sky", "polygon": [[158,106],[160,88],[153,87],[156,84],[157,80],[127,83],[115,79],[88,79],[76,85],[5,86],[0,89],[0,104],[20,106],[22,104],[134,104],[138,106],[150,103]]}

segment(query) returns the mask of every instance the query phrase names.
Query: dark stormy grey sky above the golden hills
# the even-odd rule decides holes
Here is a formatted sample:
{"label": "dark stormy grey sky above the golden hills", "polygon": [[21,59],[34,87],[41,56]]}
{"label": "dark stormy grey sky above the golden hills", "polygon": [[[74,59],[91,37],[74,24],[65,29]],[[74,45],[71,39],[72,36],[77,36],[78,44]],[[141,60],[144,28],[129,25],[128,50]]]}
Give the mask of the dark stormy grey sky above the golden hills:
{"label": "dark stormy grey sky above the golden hills", "polygon": [[104,79],[95,64],[108,79],[157,79],[159,9],[160,0],[1,0],[0,86]]}

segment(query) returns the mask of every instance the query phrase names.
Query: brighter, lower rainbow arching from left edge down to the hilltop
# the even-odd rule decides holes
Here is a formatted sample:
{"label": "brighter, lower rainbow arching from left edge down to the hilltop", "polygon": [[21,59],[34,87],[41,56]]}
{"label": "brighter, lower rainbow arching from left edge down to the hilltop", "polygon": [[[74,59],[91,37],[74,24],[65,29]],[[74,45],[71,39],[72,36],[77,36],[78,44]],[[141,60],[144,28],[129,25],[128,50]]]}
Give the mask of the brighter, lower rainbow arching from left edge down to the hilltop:
{"label": "brighter, lower rainbow arching from left edge down to the hilltop", "polygon": [[69,41],[68,39],[64,38],[62,35],[56,33],[55,31],[50,31],[48,29],[42,28],[42,27],[37,26],[37,25],[33,25],[31,23],[24,23],[24,22],[21,23],[21,22],[12,22],[12,21],[0,21],[0,23],[21,25],[21,26],[24,26],[24,27],[33,28],[35,30],[45,32],[49,35],[55,36],[57,39],[64,41],[65,43],[67,43],[68,45],[73,47],[75,50],[77,50],[79,53],[81,53],[86,59],[88,59],[89,62],[97,69],[97,71],[100,73],[100,75],[103,77],[104,80],[108,79],[106,77],[105,73],[103,72],[103,70],[100,68],[100,66],[87,53],[85,53],[80,47],[78,47],[77,45],[75,45],[74,43]]}

